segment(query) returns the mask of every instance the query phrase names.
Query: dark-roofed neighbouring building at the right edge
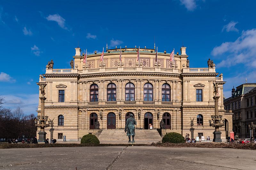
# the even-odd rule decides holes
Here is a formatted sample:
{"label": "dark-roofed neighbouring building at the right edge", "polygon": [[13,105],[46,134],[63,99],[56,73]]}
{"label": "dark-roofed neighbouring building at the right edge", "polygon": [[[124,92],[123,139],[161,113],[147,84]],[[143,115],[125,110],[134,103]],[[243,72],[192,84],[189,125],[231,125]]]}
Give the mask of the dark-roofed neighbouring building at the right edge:
{"label": "dark-roofed neighbouring building at the right edge", "polygon": [[[256,83],[245,83],[236,89],[233,87],[231,95],[224,100],[224,106],[226,112],[232,110],[233,131],[240,138],[250,138],[248,125],[252,122],[256,124]],[[256,137],[256,129],[253,130],[253,136]]]}

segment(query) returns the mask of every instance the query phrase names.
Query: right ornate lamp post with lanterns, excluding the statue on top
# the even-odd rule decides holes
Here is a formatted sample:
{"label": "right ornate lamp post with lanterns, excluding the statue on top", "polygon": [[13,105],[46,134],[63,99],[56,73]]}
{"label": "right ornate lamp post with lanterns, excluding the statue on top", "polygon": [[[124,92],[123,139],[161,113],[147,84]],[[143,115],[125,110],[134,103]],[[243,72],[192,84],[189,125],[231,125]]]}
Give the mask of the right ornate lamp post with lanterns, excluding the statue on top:
{"label": "right ornate lamp post with lanterns, excluding the statue on top", "polygon": [[[219,108],[218,108],[218,102],[219,102],[220,96],[213,97],[214,99],[214,115],[211,115],[212,120],[209,120],[210,126],[215,127],[215,131],[213,132],[213,142],[222,142],[221,141],[221,132],[220,127],[224,126],[225,119],[222,120],[222,115],[219,115]],[[222,120],[222,122],[221,122]]]}

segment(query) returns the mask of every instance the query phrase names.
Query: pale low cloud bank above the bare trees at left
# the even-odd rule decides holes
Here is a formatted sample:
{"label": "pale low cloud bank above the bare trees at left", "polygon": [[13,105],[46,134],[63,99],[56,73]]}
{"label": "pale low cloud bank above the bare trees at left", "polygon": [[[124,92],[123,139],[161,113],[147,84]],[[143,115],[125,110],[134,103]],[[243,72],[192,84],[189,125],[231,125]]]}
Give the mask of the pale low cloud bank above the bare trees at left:
{"label": "pale low cloud bank above the bare trees at left", "polygon": [[24,111],[26,115],[35,113],[38,107],[38,94],[17,94],[3,95],[4,107],[14,110],[17,106]]}

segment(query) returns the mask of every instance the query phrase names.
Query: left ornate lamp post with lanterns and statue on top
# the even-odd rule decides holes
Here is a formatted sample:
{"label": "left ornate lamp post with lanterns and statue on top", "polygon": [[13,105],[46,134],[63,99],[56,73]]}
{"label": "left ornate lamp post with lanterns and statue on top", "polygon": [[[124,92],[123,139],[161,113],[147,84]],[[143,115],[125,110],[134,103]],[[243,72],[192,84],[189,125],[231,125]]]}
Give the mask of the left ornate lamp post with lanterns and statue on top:
{"label": "left ornate lamp post with lanterns and statue on top", "polygon": [[[46,100],[46,97],[44,97],[44,87],[45,85],[41,85],[41,94],[42,97],[39,97],[41,100],[41,115],[37,115],[37,119],[35,119],[35,125],[37,128],[40,128],[40,131],[38,132],[38,142],[45,142],[46,141],[46,132],[44,131],[44,128],[50,126],[50,121],[48,121],[48,116],[44,115],[44,100]],[[47,122],[48,121],[48,122]]]}

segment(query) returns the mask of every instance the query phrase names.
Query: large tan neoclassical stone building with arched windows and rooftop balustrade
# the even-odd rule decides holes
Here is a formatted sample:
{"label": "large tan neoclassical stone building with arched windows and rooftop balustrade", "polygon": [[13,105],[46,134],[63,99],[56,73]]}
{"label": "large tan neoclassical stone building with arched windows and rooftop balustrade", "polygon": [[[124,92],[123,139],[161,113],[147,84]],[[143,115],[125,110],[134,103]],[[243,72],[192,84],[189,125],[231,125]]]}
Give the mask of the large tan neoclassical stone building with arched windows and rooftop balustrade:
{"label": "large tan neoclassical stone building with arched windows and rooftop balustrade", "polygon": [[[222,74],[213,67],[189,68],[186,47],[170,62],[170,53],[141,48],[107,49],[103,62],[100,54],[87,55],[87,63],[80,48],[75,48],[74,69],[49,69],[37,84],[45,87],[45,115],[50,127],[46,138],[79,140],[83,135],[99,131],[124,129],[125,120],[132,113],[136,130],[158,128],[163,119],[166,132],[178,132],[191,138],[210,136],[209,126],[214,115],[213,83],[219,86],[219,113],[226,119],[221,128],[222,138],[232,131],[232,114],[225,113],[223,105]],[[193,61],[192,61],[193,62]],[[205,62],[206,65],[207,62]],[[207,65],[206,65],[207,66]],[[219,75],[219,76],[218,76]],[[41,96],[39,87],[39,97]],[[41,106],[39,102],[38,114]],[[100,129],[94,129],[94,122]]]}

